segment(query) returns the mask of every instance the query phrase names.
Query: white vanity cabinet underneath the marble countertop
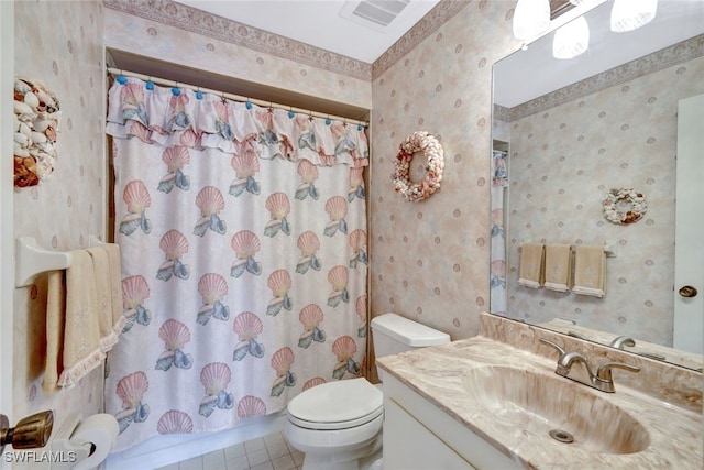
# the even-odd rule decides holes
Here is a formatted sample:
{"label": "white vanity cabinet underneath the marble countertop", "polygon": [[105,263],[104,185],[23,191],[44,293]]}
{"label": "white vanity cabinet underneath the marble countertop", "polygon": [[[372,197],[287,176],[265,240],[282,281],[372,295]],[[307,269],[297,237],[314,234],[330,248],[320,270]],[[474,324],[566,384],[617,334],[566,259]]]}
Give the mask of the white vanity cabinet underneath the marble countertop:
{"label": "white vanity cabinet underneath the marble countertop", "polygon": [[520,468],[389,373],[383,387],[384,470]]}

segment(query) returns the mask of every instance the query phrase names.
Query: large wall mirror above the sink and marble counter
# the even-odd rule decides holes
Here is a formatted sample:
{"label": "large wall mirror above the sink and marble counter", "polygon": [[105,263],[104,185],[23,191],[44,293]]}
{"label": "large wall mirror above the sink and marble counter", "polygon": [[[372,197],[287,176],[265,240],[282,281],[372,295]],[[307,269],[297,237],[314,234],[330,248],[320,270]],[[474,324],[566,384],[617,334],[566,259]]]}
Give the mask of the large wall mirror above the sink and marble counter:
{"label": "large wall mirror above the sink and marble counter", "polygon": [[[704,2],[660,0],[625,33],[613,4],[584,9],[583,54],[553,58],[550,32],[494,65],[491,311],[701,369],[673,328],[678,106],[704,95]],[[607,220],[612,188],[641,193],[645,216]],[[608,247],[605,296],[519,285],[525,243]]]}

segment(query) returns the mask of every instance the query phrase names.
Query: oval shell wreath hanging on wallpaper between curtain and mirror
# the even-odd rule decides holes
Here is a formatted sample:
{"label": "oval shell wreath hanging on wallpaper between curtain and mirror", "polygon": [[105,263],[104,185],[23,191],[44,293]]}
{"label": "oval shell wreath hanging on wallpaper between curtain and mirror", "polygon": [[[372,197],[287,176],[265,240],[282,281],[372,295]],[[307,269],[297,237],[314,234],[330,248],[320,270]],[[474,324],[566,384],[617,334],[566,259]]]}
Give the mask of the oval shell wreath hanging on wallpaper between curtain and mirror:
{"label": "oval shell wreath hanging on wallpaper between curtain and mirror", "polygon": [[[411,183],[409,177],[410,161],[416,152],[422,152],[428,160],[426,176],[420,183]],[[444,160],[442,145],[426,131],[417,131],[408,135],[398,146],[392,177],[394,190],[407,201],[416,203],[430,197],[440,189]]]}

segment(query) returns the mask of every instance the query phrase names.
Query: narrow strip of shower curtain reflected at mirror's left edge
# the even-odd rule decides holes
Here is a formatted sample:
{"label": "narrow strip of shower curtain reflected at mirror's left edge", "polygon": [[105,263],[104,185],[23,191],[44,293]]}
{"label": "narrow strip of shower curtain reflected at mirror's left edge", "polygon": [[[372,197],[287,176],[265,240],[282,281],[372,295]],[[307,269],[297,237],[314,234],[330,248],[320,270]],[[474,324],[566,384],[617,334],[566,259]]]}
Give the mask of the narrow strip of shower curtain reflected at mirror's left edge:
{"label": "narrow strip of shower curtain reflected at mirror's left edge", "polygon": [[504,230],[504,188],[508,187],[506,152],[492,152],[492,237],[490,275],[490,311],[506,315],[506,237]]}

